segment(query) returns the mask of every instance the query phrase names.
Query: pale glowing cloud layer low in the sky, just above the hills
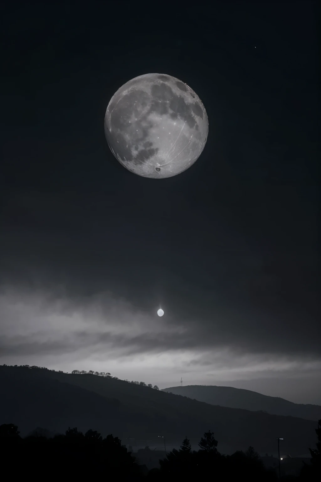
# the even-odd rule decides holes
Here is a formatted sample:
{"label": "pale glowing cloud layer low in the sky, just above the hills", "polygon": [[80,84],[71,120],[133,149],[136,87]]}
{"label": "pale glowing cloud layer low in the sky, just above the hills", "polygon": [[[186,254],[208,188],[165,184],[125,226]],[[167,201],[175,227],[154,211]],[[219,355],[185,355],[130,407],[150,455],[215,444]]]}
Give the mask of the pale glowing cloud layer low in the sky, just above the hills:
{"label": "pale glowing cloud layer low in the sky, just above the hills", "polygon": [[236,335],[228,336],[224,323],[210,330],[200,321],[166,315],[141,311],[111,293],[76,302],[62,292],[2,287],[0,362],[108,371],[161,387],[178,385],[180,376],[185,384],[219,384],[311,376],[321,368],[316,356],[254,350],[253,339],[250,349]]}

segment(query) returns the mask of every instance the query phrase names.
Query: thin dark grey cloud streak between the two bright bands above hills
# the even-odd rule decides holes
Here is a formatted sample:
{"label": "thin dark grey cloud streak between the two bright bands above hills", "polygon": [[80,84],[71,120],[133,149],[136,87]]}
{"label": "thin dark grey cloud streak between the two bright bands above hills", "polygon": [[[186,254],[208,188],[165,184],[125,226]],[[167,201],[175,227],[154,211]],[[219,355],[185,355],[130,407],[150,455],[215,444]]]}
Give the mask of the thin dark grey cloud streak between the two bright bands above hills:
{"label": "thin dark grey cloud streak between the two bright bands above hills", "polygon": [[[161,327],[159,327],[161,328]],[[171,327],[170,333],[166,331],[166,325],[162,327],[164,331],[156,332],[145,332],[139,333],[137,335],[129,334],[115,334],[112,332],[99,332],[93,333],[90,331],[78,331],[75,328],[71,333],[62,333],[61,335],[55,334],[57,339],[49,340],[49,334],[43,332],[41,334],[41,341],[35,341],[35,337],[39,338],[37,334],[30,334],[27,336],[1,336],[0,337],[0,356],[13,355],[13,354],[56,354],[61,353],[75,353],[78,350],[86,349],[88,352],[94,351],[96,353],[103,353],[113,350],[119,354],[119,356],[129,356],[129,355],[139,355],[147,353],[166,353],[167,351],[177,351],[181,350],[215,350],[219,351],[226,349],[227,347],[233,352],[235,356],[245,355],[259,355],[260,360],[264,361],[269,359],[271,355],[280,355],[280,350],[276,350],[275,347],[263,347],[259,346],[254,349],[254,343],[252,342],[248,345],[242,345],[236,343],[233,340],[229,340],[227,335],[218,333],[202,333],[197,325],[191,325],[190,329],[185,329],[182,331],[180,327],[176,329]],[[90,327],[89,327],[90,330]],[[52,335],[51,335],[52,338]],[[223,343],[223,340],[225,343]],[[229,343],[228,343],[229,342]],[[268,349],[269,348],[269,349]],[[274,348],[274,349],[273,349]],[[312,360],[318,360],[317,354],[308,355],[301,350],[301,352],[292,353],[289,351],[285,354],[287,357],[300,359],[306,358],[307,356]],[[284,355],[284,356],[285,356]],[[198,360],[192,359],[187,365],[202,365],[209,366],[213,363],[218,363],[213,359]],[[243,361],[243,366],[246,366],[246,360]],[[218,365],[220,366],[220,365]]]}

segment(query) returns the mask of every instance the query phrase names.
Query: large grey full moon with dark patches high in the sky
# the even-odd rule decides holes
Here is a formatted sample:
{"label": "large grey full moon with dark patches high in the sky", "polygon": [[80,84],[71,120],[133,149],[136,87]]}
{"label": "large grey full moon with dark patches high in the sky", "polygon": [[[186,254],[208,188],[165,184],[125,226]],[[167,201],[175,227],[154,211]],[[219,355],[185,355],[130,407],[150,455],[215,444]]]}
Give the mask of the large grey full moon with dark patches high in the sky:
{"label": "large grey full moon with dark patches high in the sky", "polygon": [[132,173],[154,179],[188,169],[202,153],[208,119],[184,82],[165,74],[129,80],[111,98],[105,135],[116,159]]}

